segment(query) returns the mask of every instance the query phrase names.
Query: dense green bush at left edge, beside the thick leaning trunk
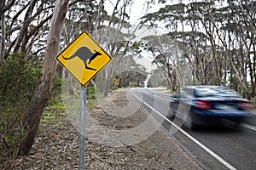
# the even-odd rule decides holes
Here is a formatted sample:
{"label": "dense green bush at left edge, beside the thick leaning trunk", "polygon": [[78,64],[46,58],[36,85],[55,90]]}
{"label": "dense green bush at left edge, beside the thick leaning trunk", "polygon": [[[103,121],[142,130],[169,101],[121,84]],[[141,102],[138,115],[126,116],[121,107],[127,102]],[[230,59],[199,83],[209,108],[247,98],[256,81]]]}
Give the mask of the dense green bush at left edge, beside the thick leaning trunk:
{"label": "dense green bush at left edge, beside the thick leaning trunk", "polygon": [[39,73],[25,54],[12,54],[0,68],[0,150],[13,153],[25,136],[22,123]]}

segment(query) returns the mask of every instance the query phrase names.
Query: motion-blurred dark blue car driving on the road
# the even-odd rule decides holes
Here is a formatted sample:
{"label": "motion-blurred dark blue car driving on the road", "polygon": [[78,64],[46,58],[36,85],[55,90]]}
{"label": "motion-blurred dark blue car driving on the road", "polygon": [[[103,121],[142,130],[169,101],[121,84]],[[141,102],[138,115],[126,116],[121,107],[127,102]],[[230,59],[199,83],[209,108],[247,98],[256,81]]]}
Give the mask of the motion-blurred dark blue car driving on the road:
{"label": "motion-blurred dark blue car driving on the road", "polygon": [[169,117],[183,120],[183,125],[194,128],[196,125],[217,125],[223,120],[237,126],[250,112],[250,103],[242,99],[236,91],[221,86],[191,86],[183,88],[171,98]]}

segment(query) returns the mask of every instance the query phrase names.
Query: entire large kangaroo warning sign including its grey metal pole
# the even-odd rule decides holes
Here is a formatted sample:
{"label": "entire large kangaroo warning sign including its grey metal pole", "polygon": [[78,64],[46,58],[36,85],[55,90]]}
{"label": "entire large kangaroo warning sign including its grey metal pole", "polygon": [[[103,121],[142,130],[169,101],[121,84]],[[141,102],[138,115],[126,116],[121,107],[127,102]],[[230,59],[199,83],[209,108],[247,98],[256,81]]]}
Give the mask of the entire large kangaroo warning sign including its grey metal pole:
{"label": "entire large kangaroo warning sign including its grey metal pole", "polygon": [[107,65],[112,57],[92,38],[83,31],[56,60],[73,75],[81,84],[80,92],[80,125],[79,125],[79,170],[84,169],[85,150],[85,113],[87,83]]}

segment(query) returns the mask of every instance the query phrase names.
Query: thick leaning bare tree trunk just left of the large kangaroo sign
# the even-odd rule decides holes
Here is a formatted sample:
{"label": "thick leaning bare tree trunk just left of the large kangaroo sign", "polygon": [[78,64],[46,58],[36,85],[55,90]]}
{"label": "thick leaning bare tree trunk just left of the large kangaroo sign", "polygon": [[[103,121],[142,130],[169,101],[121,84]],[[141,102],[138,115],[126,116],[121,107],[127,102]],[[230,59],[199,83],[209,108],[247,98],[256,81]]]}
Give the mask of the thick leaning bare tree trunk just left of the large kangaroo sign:
{"label": "thick leaning bare tree trunk just left of the large kangaroo sign", "polygon": [[41,76],[38,80],[37,88],[32,96],[32,100],[26,112],[24,129],[26,137],[21,140],[19,154],[27,155],[32,148],[34,138],[37,134],[38,126],[43,115],[44,106],[49,99],[50,90],[56,70],[55,55],[58,54],[61,40],[61,30],[67,14],[68,0],[56,0],[55,12],[49,28],[49,38]]}

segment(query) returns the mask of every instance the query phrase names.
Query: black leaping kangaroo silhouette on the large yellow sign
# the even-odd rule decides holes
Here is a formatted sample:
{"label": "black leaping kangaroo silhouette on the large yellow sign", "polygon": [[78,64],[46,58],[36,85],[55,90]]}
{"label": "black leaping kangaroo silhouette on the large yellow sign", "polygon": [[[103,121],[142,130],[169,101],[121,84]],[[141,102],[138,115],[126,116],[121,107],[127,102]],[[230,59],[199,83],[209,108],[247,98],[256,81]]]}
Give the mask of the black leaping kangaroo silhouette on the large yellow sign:
{"label": "black leaping kangaroo silhouette on the large yellow sign", "polygon": [[[79,59],[81,59],[83,62],[84,62],[84,66],[86,69],[89,69],[89,70],[92,70],[92,71],[96,71],[96,69],[94,68],[90,68],[89,66],[87,66],[88,64],[90,64],[90,62],[93,60],[93,59],[96,59],[96,57],[98,55],[102,55],[101,53],[97,52],[95,54],[91,53],[90,49],[89,48],[86,48],[86,47],[81,47],[79,48],[72,56],[70,57],[63,57],[63,59],[67,59],[67,60],[70,60],[70,59],[73,59],[75,57],[79,57]],[[88,61],[89,60],[89,61]]]}

